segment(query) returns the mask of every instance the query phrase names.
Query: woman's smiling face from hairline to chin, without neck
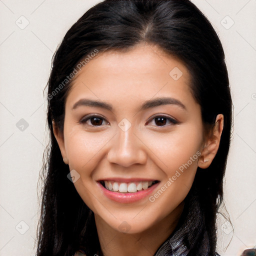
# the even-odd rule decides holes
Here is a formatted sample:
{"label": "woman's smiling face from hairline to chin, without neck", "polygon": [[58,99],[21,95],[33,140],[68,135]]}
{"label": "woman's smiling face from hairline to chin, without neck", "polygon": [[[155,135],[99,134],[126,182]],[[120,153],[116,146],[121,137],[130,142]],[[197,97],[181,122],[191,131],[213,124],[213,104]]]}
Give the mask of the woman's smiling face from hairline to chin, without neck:
{"label": "woman's smiling face from hairline to chin, without neck", "polygon": [[115,230],[172,218],[192,185],[203,126],[189,79],[180,61],[138,44],[98,54],[73,80],[58,143],[77,192]]}

